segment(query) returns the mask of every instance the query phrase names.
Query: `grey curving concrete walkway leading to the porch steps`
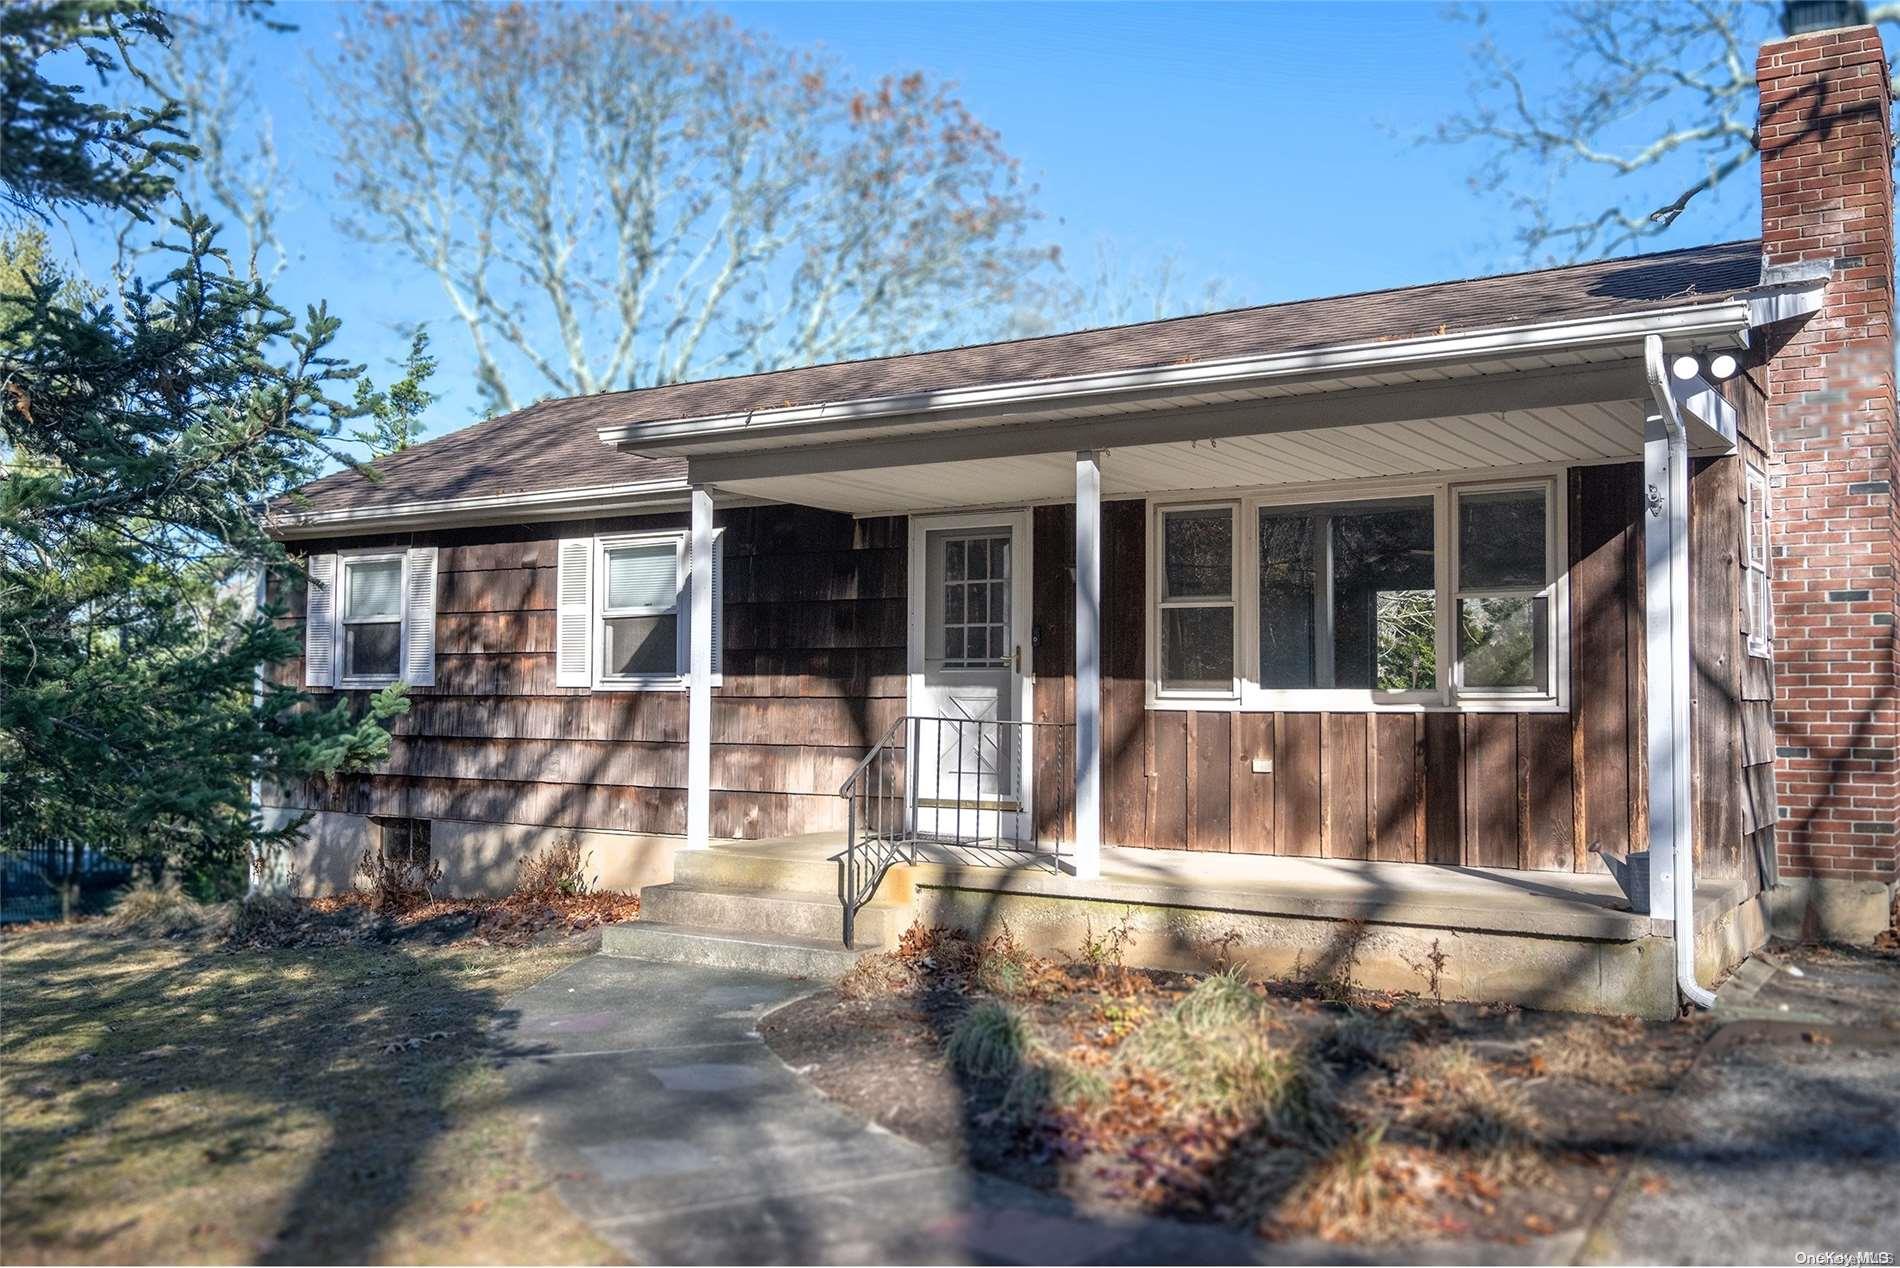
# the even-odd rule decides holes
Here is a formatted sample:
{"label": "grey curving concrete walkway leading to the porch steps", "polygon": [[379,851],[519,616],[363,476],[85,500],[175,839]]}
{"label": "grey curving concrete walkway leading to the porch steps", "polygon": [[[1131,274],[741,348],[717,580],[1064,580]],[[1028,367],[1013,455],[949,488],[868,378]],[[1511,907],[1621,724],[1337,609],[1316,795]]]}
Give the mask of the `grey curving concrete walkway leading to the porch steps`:
{"label": "grey curving concrete walkway leading to the porch steps", "polygon": [[[633,1262],[1372,1262],[1205,1224],[1092,1215],[868,1125],[808,1087],[758,1019],[811,983],[593,956],[496,1034],[560,1198]],[[1444,1247],[1406,1262],[1524,1262]],[[1556,1257],[1575,1243],[1550,1247]]]}

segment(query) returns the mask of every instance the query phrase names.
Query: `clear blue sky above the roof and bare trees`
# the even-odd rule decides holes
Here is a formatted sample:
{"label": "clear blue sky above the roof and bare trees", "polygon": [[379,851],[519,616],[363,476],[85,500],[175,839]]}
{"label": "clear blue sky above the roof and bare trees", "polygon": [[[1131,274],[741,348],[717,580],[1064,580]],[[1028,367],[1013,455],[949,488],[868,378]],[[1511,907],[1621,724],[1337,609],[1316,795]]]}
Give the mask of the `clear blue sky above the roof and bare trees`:
{"label": "clear blue sky above the roof and bare trees", "polygon": [[[741,25],[823,44],[861,80],[912,68],[956,80],[1039,184],[1045,238],[1098,241],[1233,302],[1433,281],[1522,266],[1471,156],[1417,137],[1467,103],[1467,23],[1440,4],[733,4]],[[306,57],[336,8],[279,4],[293,34],[256,34],[264,105],[294,183],[300,259],[279,298],[325,298],[342,348],[386,382],[399,327],[428,321],[441,355],[441,433],[477,416],[466,335],[433,278],[334,232],[327,163],[306,122]],[[1493,8],[1533,82],[1556,82],[1541,4]],[[1752,181],[1738,181],[1748,186]],[[1740,190],[1737,190],[1738,194]],[[1586,190],[1579,190],[1586,194]],[[1744,236],[1737,194],[1659,245]]]}

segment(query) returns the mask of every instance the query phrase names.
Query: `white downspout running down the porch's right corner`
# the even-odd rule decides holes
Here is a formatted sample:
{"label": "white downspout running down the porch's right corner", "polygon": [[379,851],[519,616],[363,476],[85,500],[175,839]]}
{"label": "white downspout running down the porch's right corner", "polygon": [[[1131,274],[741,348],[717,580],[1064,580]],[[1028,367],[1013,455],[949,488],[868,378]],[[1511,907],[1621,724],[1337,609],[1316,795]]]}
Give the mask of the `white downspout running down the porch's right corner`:
{"label": "white downspout running down the porch's right corner", "polygon": [[[1695,833],[1689,779],[1689,435],[1670,388],[1662,336],[1644,336],[1644,369],[1655,414],[1644,437],[1647,525],[1649,646],[1649,865],[1651,914],[1662,899],[1659,863],[1668,869],[1666,893],[1676,939],[1676,987],[1699,1008],[1716,996],[1695,981]],[[1661,627],[1659,627],[1661,625]],[[1659,850],[1659,846],[1664,846]]]}

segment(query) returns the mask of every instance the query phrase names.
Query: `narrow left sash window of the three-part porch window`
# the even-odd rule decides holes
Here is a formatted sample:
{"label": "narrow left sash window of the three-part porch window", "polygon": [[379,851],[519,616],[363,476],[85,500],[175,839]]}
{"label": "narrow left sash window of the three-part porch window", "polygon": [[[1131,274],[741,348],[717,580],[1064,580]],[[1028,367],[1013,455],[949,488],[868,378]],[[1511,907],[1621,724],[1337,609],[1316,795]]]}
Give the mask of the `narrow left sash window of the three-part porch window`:
{"label": "narrow left sash window of the three-part porch window", "polygon": [[1233,692],[1233,508],[1161,511],[1161,682]]}

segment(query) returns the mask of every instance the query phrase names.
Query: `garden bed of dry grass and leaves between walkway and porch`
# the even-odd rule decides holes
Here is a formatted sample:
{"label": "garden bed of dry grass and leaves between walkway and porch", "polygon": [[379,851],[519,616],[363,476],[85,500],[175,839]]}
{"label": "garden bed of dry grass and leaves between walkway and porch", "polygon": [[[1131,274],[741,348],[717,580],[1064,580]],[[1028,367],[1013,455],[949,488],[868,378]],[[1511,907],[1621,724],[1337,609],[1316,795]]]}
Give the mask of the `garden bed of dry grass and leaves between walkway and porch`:
{"label": "garden bed of dry grass and leaves between walkway and porch", "polygon": [[1036,960],[912,930],[773,1013],[825,1095],[969,1165],[1269,1239],[1588,1222],[1706,1025]]}

